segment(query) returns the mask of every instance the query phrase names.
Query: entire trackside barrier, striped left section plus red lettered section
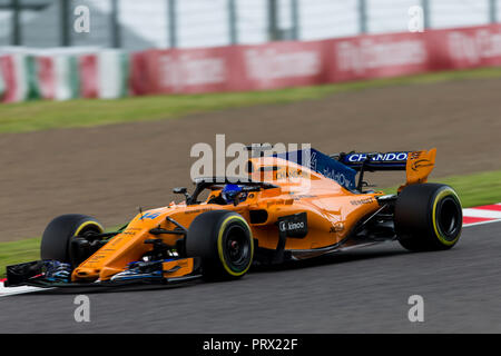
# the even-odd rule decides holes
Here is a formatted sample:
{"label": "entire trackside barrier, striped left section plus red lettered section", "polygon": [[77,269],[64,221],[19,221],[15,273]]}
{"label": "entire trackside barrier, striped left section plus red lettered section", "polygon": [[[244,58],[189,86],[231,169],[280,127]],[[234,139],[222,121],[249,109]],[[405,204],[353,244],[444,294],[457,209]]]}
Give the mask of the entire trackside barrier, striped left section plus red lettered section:
{"label": "entire trackside barrier, striped left section plus red lettered section", "polygon": [[136,53],[7,49],[0,99],[249,91],[489,66],[501,66],[501,24]]}

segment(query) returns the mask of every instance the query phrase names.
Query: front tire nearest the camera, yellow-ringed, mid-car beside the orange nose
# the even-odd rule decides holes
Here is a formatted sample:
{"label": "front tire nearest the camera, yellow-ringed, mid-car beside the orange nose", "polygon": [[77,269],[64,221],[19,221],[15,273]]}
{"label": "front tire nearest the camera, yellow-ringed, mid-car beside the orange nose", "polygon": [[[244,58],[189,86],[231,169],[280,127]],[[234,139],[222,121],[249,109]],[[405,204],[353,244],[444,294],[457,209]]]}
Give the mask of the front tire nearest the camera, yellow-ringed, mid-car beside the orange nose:
{"label": "front tire nearest the camera, yellow-ringed, mid-car beside the orange nose", "polygon": [[253,263],[252,230],[236,212],[213,210],[200,214],[189,226],[186,255],[200,258],[206,279],[239,278]]}

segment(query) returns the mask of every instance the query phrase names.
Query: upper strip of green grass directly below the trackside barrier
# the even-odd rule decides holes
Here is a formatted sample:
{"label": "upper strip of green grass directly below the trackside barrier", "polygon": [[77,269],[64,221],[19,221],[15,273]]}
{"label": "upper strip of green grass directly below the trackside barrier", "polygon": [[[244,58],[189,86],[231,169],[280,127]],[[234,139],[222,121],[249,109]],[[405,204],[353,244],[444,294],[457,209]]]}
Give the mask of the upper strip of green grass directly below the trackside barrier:
{"label": "upper strip of green grass directly below the trackside barrier", "polygon": [[0,105],[0,132],[27,132],[173,119],[190,113],[228,108],[314,100],[335,92],[367,88],[500,77],[501,68],[482,68],[273,91],[151,96],[117,100],[79,99],[63,102],[29,101]]}

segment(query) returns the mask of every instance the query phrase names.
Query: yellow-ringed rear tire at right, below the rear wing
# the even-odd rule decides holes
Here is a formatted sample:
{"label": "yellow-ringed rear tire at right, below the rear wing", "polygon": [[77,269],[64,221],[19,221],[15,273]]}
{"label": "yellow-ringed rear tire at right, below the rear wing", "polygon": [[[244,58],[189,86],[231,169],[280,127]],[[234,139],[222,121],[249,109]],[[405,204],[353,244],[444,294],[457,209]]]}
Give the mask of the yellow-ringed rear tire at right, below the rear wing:
{"label": "yellow-ringed rear tire at right, below the rear wing", "polygon": [[463,212],[449,186],[421,184],[405,187],[395,205],[395,231],[411,251],[452,248],[461,236]]}

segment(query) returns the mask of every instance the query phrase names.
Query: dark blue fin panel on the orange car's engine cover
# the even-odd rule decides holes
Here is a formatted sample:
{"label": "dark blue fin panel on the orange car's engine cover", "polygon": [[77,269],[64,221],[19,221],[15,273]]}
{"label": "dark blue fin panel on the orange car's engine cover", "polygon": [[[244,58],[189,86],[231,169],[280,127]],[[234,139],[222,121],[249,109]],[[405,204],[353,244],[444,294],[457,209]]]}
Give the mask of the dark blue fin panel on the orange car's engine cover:
{"label": "dark blue fin panel on the orange car's engine cover", "polygon": [[[305,155],[310,154],[310,159]],[[340,186],[346,189],[355,189],[356,171],[342,162],[322,154],[316,149],[303,149],[297,151],[284,152],[273,155],[274,157],[283,158],[288,161],[305,166],[317,174],[323,175],[336,181]],[[305,159],[303,159],[305,158]]]}

